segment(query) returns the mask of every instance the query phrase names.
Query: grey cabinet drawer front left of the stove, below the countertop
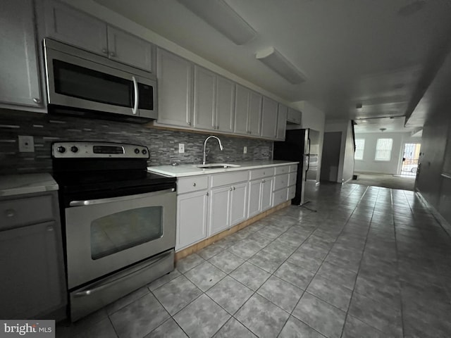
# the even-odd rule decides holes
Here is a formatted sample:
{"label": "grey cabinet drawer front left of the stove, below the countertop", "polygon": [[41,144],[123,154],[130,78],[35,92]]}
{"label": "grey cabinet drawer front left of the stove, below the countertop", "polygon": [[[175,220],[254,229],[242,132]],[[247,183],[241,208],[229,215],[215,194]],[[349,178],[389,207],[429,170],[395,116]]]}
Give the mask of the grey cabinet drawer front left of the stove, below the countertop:
{"label": "grey cabinet drawer front left of the stove, below the countertop", "polygon": [[0,201],[0,230],[53,219],[52,195]]}

